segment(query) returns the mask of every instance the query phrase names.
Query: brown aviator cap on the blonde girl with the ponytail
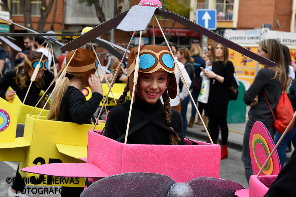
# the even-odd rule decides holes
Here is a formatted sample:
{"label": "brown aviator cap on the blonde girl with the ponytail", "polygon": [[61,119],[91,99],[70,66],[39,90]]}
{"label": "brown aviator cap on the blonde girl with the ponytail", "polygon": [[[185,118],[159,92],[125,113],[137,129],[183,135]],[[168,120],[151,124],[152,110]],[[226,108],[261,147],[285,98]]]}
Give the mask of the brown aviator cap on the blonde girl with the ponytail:
{"label": "brown aviator cap on the blonde girl with the ponytail", "polygon": [[95,74],[98,69],[96,54],[89,49],[78,48],[76,51],[71,51],[67,54],[67,64],[74,52],[75,54],[67,67],[67,72],[80,73],[82,75],[83,84],[89,86],[87,83],[88,78],[91,74]]}

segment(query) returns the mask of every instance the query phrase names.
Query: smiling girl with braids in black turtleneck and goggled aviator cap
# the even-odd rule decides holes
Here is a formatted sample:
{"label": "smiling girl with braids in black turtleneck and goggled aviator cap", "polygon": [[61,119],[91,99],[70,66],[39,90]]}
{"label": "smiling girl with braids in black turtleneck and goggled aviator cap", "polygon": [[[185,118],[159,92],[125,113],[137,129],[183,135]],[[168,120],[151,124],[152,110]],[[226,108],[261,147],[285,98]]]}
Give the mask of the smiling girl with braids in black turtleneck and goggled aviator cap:
{"label": "smiling girl with braids in black turtleneck and goggled aviator cap", "polygon": [[[123,101],[128,91],[132,92],[137,54],[138,47],[131,49],[127,65],[128,83],[106,121],[104,135],[121,142],[124,142],[121,136],[126,132],[131,105],[131,100]],[[139,76],[127,143],[184,144],[184,137],[181,136],[182,116],[176,109],[170,108],[170,98],[176,97],[177,83],[175,63],[168,47],[142,45],[139,59]]]}

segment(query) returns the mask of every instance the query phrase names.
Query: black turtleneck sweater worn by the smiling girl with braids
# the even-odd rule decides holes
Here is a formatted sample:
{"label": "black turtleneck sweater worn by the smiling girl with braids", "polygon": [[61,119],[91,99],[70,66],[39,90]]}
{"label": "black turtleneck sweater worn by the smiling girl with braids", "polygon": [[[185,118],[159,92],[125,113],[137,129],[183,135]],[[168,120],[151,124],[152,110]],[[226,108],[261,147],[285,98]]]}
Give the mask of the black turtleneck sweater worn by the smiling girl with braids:
{"label": "black turtleneck sweater worn by the smiling girl with braids", "polygon": [[[128,122],[128,112],[131,105],[131,100],[126,101],[119,106],[113,107],[107,116],[105,133],[104,135],[113,140],[118,139],[121,135],[126,133],[126,127]],[[140,110],[143,114],[151,115],[155,111],[159,111],[159,114],[156,115],[155,119],[159,120],[166,125],[164,107],[160,99],[154,105],[147,104],[135,97],[135,102],[133,103],[133,108]],[[172,112],[171,116],[171,126],[172,128],[182,135],[183,134],[183,119],[181,114],[173,108],[170,108]],[[144,120],[143,117],[140,117],[133,112],[131,113],[131,121],[129,125],[129,130],[137,125],[139,122]],[[149,122],[144,127],[136,130],[131,135],[128,135],[127,143],[130,144],[169,144],[169,132],[168,130],[160,127],[159,125]],[[180,144],[185,144],[184,138],[181,137]],[[124,138],[120,141],[124,142]]]}

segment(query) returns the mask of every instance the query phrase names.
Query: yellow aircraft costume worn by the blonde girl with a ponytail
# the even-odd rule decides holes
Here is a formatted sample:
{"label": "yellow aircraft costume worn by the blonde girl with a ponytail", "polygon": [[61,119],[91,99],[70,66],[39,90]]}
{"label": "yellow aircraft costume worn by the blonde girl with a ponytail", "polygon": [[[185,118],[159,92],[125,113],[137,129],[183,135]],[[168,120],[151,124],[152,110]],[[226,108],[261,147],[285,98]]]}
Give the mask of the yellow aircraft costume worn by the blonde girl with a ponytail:
{"label": "yellow aircraft costume worn by the blonde girl with a ponytail", "polygon": [[[49,163],[84,163],[83,160],[78,158],[85,158],[87,155],[88,131],[94,125],[52,121],[47,120],[44,116],[36,119],[36,115],[27,114],[24,135],[15,138],[17,118],[14,109],[2,98],[0,98],[0,106],[1,161],[20,162],[19,169]],[[99,123],[96,130],[102,130],[103,127],[104,123]],[[44,178],[46,180],[41,181],[38,185],[84,186],[84,178],[78,179],[79,184],[75,184],[77,182],[55,184],[52,182],[51,176],[39,175],[39,177],[35,177],[35,174],[21,171],[20,174],[23,178],[31,180],[32,178]]]}

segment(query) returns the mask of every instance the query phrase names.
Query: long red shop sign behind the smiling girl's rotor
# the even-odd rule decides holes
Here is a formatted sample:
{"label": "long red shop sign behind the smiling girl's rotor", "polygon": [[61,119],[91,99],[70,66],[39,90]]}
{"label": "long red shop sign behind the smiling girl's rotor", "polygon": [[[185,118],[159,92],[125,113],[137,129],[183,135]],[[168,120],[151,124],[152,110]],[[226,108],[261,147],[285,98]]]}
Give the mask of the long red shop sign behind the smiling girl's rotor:
{"label": "long red shop sign behind the smiling girl's rotor", "polygon": [[[165,36],[169,36],[170,28],[163,28],[163,33]],[[154,28],[155,36],[162,36],[160,28]],[[153,28],[149,28],[149,35],[153,35]],[[191,29],[173,29],[171,36],[172,37],[200,37],[200,33],[193,31]]]}

